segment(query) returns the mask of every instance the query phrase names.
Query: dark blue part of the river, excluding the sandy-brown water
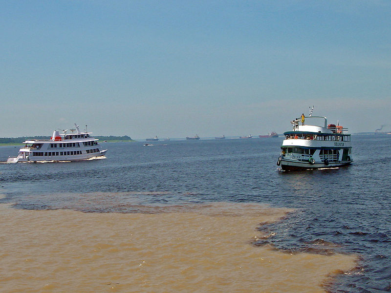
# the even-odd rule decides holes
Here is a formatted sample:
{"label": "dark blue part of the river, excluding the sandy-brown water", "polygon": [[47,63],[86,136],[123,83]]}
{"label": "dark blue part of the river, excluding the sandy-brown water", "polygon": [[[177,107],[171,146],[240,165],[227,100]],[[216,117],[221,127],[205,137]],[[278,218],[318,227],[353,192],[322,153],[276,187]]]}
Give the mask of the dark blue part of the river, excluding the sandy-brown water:
{"label": "dark blue part of the river, excluding the sandy-brown water", "polygon": [[[353,136],[354,163],[281,172],[282,138],[107,143],[107,159],[0,164],[1,203],[19,209],[137,212],[138,206],[210,201],[294,208],[255,245],[360,256],[329,292],[391,291],[391,136]],[[0,147],[0,161],[18,148]]]}

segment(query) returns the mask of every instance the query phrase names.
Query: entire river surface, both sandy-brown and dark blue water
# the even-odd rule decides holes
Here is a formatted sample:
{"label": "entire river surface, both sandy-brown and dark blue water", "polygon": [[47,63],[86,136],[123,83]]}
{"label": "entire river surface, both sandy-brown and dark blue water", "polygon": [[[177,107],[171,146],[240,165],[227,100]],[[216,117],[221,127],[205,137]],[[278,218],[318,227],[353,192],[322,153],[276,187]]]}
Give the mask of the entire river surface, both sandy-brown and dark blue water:
{"label": "entire river surface, both sandy-brown and dark blue water", "polygon": [[391,136],[353,135],[349,167],[292,172],[281,143],[0,164],[5,292],[390,292]]}

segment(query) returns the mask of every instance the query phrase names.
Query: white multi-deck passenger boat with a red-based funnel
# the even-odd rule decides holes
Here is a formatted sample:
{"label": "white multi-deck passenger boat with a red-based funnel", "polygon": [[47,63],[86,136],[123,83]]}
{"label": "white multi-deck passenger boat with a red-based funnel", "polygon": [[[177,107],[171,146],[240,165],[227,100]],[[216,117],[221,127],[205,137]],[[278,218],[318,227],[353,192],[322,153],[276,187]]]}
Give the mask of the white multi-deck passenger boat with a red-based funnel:
{"label": "white multi-deck passenger boat with a red-based funnel", "polygon": [[[79,126],[75,124],[75,127],[69,134],[67,130],[63,134],[55,130],[50,140],[26,140],[18,156],[9,157],[7,163],[81,161],[105,155],[107,149],[102,150],[98,139],[90,136],[92,132],[80,132]],[[77,132],[73,133],[75,130]]]}

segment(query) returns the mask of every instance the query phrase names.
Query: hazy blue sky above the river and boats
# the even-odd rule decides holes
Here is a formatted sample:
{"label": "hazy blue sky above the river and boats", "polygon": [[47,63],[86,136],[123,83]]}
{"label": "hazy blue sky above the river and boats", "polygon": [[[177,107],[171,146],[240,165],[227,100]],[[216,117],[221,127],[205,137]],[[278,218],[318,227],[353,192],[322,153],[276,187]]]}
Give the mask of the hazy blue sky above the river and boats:
{"label": "hazy blue sky above the river and boats", "polygon": [[0,137],[391,131],[389,0],[0,5]]}

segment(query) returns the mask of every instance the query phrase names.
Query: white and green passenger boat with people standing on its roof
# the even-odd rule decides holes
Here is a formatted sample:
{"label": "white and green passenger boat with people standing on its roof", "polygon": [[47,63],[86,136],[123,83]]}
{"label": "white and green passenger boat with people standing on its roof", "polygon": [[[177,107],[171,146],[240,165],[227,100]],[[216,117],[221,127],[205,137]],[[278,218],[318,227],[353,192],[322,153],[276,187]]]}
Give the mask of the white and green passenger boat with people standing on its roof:
{"label": "white and green passenger boat with people standing on its roof", "polygon": [[[301,118],[300,118],[301,120]],[[315,123],[316,121],[323,123]],[[348,128],[327,124],[327,118],[304,117],[304,125],[293,124],[292,131],[284,132],[281,154],[277,165],[282,170],[300,170],[349,165],[352,160]]]}

